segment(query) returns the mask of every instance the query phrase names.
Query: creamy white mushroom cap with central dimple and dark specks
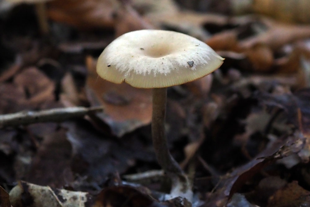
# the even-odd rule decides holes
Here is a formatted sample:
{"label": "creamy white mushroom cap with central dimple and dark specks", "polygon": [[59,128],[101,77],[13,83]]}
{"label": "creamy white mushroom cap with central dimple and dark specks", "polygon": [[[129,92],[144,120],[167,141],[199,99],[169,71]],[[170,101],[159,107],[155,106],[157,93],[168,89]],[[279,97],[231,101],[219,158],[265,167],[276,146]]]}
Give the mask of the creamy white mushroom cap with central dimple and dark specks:
{"label": "creamy white mushroom cap with central dimple and dark specks", "polygon": [[223,60],[206,43],[186,34],[145,29],[110,43],[98,59],[97,73],[113,83],[165,88],[204,77]]}

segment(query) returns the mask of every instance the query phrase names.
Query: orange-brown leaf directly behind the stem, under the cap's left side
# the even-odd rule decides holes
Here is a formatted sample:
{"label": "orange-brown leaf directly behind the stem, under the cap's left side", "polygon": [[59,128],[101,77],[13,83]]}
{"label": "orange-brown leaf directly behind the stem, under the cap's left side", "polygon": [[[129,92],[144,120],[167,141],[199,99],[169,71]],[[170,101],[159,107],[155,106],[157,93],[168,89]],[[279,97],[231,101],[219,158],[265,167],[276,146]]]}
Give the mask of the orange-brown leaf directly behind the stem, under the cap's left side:
{"label": "orange-brown leaf directly behind the stem, under the cap's left side", "polygon": [[[102,105],[100,116],[112,132],[122,137],[138,127],[149,124],[152,118],[151,89],[134,88],[127,83],[115,84],[101,79],[96,73],[96,61],[87,57],[88,99],[93,106]],[[100,113],[98,113],[100,115]]]}

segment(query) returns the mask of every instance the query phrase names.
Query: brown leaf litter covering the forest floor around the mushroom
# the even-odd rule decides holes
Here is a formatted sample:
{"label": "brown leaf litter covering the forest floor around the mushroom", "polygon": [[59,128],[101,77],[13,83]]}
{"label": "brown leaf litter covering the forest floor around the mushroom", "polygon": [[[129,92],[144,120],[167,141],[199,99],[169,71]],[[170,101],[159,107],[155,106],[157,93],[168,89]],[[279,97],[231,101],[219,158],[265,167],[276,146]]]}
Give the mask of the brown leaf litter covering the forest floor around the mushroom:
{"label": "brown leaf litter covering the forest floor around the mushroom", "polygon": [[[211,15],[215,2],[200,2],[201,13],[182,9],[193,2],[163,2],[51,1],[47,36],[31,5],[0,17],[1,114],[104,107],[0,128],[1,206],[309,205],[309,26],[292,23],[295,13],[288,23],[228,16],[230,4]],[[212,76],[168,89],[169,148],[193,177],[192,204],[162,200],[170,181],[153,171],[150,90],[95,73],[109,42],[146,28],[190,34],[226,58]]]}

